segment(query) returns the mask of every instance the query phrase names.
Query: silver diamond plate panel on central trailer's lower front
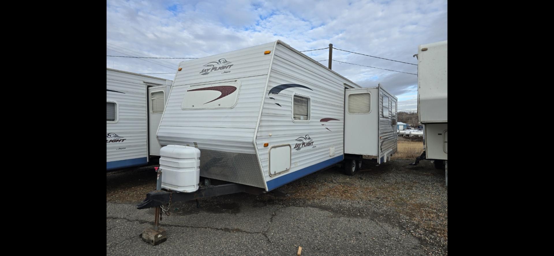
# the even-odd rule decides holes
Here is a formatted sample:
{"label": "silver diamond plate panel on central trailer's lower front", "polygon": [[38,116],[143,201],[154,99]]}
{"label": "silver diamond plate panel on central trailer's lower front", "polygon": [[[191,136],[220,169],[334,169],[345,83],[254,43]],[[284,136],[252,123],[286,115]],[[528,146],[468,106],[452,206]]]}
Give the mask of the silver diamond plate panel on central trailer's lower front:
{"label": "silver diamond plate panel on central trailer's lower front", "polygon": [[254,187],[265,188],[255,154],[200,150],[200,175]]}

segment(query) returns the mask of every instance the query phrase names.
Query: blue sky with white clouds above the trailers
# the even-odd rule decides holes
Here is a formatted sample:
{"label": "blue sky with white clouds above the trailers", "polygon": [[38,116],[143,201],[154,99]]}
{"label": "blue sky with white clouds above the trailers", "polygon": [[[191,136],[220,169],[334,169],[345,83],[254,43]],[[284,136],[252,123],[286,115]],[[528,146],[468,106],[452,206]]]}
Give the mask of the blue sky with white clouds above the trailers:
{"label": "blue sky with white clouds above the trailers", "polygon": [[[280,39],[298,51],[335,48],[417,64],[419,44],[447,40],[447,1],[107,0],[106,55],[198,58]],[[304,52],[321,61],[329,50]],[[417,74],[417,66],[333,50],[333,59]],[[106,57],[106,67],[173,79],[186,59]],[[327,66],[327,61],[320,62]],[[361,86],[381,83],[417,109],[417,76],[333,62]]]}

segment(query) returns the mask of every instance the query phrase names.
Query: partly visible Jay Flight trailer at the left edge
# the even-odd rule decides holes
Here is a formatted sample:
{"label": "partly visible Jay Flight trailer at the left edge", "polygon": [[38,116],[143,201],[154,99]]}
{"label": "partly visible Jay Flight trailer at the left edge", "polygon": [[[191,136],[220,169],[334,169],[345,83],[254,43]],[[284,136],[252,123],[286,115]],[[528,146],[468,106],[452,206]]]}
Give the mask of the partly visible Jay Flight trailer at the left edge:
{"label": "partly visible Jay Flight trailer at the left edge", "polygon": [[106,68],[106,170],[160,155],[156,132],[172,82]]}

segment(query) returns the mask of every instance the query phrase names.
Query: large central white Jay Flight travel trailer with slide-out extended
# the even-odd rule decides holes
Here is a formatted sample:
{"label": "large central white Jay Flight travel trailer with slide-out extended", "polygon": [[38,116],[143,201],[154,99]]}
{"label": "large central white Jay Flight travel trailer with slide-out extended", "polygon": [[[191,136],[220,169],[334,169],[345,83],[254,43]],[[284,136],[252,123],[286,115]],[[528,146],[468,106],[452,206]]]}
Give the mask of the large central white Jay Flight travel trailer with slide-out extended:
{"label": "large central white Jay Flight travel trailer with slide-out extended", "polygon": [[204,178],[269,191],[345,159],[352,175],[362,155],[382,163],[397,150],[396,97],[281,41],[181,62],[174,80],[157,137],[198,148]]}

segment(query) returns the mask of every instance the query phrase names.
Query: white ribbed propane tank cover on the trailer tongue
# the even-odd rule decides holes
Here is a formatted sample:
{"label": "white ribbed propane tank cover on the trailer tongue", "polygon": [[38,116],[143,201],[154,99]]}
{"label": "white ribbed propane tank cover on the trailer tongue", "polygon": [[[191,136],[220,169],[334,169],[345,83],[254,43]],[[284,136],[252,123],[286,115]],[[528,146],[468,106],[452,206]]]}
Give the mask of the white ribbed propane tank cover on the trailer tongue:
{"label": "white ribbed propane tank cover on the trailer tongue", "polygon": [[167,145],[160,149],[162,188],[191,193],[200,182],[200,149]]}

